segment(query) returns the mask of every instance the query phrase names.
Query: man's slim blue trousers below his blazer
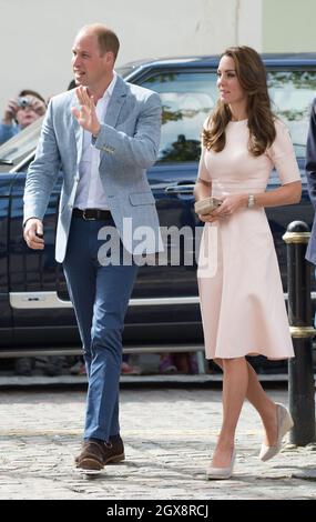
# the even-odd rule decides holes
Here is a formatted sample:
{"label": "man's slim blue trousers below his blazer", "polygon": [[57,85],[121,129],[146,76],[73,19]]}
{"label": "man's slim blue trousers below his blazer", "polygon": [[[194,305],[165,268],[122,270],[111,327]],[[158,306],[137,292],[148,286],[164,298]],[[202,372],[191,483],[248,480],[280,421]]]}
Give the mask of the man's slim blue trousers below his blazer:
{"label": "man's slim blue trousers below his blazer", "polygon": [[[137,267],[101,265],[99,230],[113,221],[72,218],[63,270],[74,307],[89,381],[84,439],[120,433],[122,331]],[[120,244],[121,254],[123,251]]]}

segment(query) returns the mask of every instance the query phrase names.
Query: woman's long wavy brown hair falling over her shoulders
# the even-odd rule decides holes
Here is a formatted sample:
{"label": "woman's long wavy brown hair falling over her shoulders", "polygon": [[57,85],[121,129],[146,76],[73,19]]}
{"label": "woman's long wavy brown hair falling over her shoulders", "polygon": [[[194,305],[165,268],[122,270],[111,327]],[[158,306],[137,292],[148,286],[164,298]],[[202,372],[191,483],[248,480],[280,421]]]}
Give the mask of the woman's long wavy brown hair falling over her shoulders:
{"label": "woman's long wavy brown hair falling over her shoulders", "polygon": [[[222,54],[224,56],[234,60],[236,76],[247,94],[248,150],[253,155],[261,155],[272,145],[276,135],[265,67],[259,54],[249,47],[231,47]],[[224,149],[225,129],[231,120],[228,104],[220,99],[207,120],[207,129],[202,132],[203,145],[207,150],[220,152]]]}

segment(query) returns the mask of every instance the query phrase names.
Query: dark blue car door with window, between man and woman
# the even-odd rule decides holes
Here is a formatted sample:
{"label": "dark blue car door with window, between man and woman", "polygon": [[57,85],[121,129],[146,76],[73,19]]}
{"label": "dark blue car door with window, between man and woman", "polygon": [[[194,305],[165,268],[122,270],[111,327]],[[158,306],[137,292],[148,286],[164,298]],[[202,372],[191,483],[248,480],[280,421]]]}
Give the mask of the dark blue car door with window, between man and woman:
{"label": "dark blue car door with window, between man and woman", "polygon": [[[201,337],[196,252],[202,227],[194,213],[193,188],[201,153],[200,135],[214,108],[216,71],[181,67],[142,72],[133,82],[156,91],[162,101],[162,135],[147,178],[156,200],[165,252],[159,265],[140,269],[129,322],[165,324],[179,341]],[[141,301],[142,300],[142,301]]]}

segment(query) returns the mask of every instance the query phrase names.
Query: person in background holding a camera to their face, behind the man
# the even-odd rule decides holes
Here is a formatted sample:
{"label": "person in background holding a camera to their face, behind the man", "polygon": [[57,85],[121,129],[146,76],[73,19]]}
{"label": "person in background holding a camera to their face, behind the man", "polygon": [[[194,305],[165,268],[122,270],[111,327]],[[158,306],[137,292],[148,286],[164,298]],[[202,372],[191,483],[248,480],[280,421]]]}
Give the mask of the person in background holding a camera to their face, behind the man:
{"label": "person in background holding a camera to their face, behind the man", "polygon": [[41,118],[47,111],[44,99],[37,91],[23,89],[18,98],[11,98],[0,123],[0,144]]}

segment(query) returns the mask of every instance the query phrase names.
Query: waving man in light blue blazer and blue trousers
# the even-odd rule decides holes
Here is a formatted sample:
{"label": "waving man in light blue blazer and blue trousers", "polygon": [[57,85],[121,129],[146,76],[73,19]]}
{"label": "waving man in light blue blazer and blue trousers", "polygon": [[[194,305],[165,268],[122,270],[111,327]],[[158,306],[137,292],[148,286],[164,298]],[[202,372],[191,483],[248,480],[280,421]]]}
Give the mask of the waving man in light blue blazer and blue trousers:
{"label": "waving man in light blue blazer and blue trousers", "polygon": [[[43,249],[42,220],[62,170],[55,257],[63,263],[89,378],[84,442],[75,459],[86,473],[124,459],[119,381],[124,315],[137,271],[133,254],[162,250],[145,172],[159,151],[160,97],[116,76],[119,46],[101,24],[85,26],[75,37],[78,87],[50,101],[24,192],[24,239]],[[110,251],[109,262],[109,251],[100,252],[113,230],[119,251]],[[144,231],[150,233],[140,244]]]}

